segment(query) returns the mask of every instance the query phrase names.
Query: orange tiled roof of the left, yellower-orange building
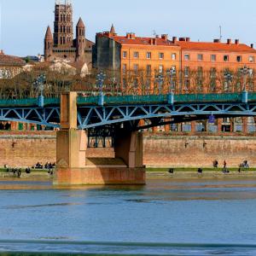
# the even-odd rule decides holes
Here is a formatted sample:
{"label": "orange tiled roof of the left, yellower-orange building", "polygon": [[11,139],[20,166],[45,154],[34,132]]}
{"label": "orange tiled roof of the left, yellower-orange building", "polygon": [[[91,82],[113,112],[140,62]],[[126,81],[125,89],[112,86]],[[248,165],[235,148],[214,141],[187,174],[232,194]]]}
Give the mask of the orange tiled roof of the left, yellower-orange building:
{"label": "orange tiled roof of the left, yellower-orange building", "polygon": [[119,36],[113,36],[113,40],[119,44],[141,44],[141,45],[153,45],[151,44],[151,40],[156,40],[156,44],[158,46],[177,46],[176,44],[173,44],[172,41],[165,40],[163,38],[127,38],[127,37],[119,37]]}

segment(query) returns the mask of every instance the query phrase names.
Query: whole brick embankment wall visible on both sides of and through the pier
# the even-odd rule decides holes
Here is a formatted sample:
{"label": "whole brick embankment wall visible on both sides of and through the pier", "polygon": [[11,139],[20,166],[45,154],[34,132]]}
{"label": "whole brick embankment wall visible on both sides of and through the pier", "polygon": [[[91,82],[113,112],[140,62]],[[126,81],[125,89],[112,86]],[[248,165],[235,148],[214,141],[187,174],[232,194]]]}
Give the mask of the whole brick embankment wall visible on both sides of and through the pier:
{"label": "whole brick embankment wall visible on both sides of and through the pier", "polygon": [[[256,166],[256,137],[250,136],[144,136],[147,166],[212,166],[213,160],[238,166],[248,160]],[[113,157],[109,148],[89,148],[87,157]],[[55,132],[0,133],[0,166],[32,166],[55,162]]]}

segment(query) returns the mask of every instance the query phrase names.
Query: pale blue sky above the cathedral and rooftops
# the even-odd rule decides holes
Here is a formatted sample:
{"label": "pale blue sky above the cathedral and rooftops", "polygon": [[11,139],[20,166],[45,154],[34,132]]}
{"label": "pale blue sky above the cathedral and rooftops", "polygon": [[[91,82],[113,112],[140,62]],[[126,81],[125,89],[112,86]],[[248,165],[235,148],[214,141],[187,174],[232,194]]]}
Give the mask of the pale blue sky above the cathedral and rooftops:
{"label": "pale blue sky above the cathedral and rooftops", "polygon": [[[0,49],[10,55],[43,53],[44,33],[53,26],[55,0],[0,0]],[[156,5],[156,3],[158,3]],[[74,23],[79,16],[86,37],[108,31],[113,23],[119,34],[140,36],[168,33],[170,37],[190,37],[194,41],[239,38],[256,42],[255,0],[73,0]]]}

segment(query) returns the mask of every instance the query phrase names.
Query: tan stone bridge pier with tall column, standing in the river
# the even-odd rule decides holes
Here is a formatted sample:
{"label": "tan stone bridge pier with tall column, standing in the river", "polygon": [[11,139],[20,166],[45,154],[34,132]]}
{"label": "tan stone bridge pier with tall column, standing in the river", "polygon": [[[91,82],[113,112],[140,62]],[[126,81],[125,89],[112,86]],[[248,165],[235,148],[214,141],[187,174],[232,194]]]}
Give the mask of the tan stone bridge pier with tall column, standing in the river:
{"label": "tan stone bridge pier with tall column, standing in the river", "polygon": [[[115,157],[124,166],[109,166],[95,160],[86,160],[88,137],[77,127],[77,94],[61,96],[61,131],[57,132],[56,185],[142,185],[145,183],[143,167],[143,135],[137,132],[117,132]],[[106,148],[108,150],[108,148]],[[99,163],[100,162],[100,163]]]}

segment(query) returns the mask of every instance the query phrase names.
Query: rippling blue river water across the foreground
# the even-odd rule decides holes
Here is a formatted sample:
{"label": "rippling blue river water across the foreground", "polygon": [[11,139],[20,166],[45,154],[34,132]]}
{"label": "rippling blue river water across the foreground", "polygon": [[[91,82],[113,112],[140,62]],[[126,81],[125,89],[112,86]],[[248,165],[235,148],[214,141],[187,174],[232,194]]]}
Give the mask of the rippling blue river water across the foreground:
{"label": "rippling blue river water across the foreground", "polygon": [[0,253],[256,255],[256,180],[3,181],[0,193]]}

